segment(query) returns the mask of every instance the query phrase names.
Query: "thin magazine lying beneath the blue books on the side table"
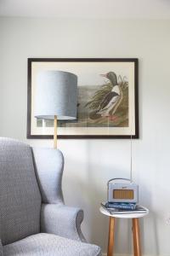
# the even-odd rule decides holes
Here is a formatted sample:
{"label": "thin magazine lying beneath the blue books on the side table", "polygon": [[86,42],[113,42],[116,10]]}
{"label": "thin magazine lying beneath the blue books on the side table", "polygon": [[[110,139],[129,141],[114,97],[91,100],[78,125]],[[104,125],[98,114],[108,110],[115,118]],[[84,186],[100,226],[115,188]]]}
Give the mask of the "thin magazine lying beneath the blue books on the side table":
{"label": "thin magazine lying beneath the blue books on the side table", "polygon": [[111,207],[111,204],[108,204],[107,202],[102,202],[101,206],[104,207],[106,211],[108,211],[110,214],[129,214],[129,213],[145,213],[146,209],[140,205],[136,205],[135,209],[122,209],[118,207]]}

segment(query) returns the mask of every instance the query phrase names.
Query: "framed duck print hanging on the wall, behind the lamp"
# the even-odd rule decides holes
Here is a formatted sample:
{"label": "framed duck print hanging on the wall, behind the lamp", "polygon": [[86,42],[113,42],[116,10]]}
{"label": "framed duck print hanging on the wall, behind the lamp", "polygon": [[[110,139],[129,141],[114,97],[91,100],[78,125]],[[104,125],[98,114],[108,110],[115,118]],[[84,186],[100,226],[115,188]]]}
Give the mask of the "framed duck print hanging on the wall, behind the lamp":
{"label": "framed duck print hanging on the wall, behind the lamp", "polygon": [[138,59],[28,59],[27,138],[52,138],[54,121],[34,117],[37,73],[77,74],[77,119],[59,138],[139,138]]}

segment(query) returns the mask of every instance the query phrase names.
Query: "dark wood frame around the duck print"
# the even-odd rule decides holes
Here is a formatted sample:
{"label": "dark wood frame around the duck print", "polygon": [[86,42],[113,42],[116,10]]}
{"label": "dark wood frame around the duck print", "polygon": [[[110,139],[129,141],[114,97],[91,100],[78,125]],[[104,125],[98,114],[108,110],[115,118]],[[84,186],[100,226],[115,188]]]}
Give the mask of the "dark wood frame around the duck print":
{"label": "dark wood frame around the duck print", "polygon": [[28,58],[27,60],[27,138],[52,139],[52,135],[31,134],[31,66],[32,62],[133,62],[134,63],[134,126],[135,134],[129,135],[59,135],[61,139],[129,139],[139,138],[139,61],[137,58]]}

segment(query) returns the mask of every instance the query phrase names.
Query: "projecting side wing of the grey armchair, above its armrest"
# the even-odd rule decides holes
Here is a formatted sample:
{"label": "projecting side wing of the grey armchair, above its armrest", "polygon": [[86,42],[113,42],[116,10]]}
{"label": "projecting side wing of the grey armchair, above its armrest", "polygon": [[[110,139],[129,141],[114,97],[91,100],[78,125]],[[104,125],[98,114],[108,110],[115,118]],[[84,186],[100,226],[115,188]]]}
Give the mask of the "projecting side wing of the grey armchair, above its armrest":
{"label": "projecting side wing of the grey armchair, above its armrest", "polygon": [[63,154],[54,148],[32,148],[32,152],[42,203],[63,204]]}

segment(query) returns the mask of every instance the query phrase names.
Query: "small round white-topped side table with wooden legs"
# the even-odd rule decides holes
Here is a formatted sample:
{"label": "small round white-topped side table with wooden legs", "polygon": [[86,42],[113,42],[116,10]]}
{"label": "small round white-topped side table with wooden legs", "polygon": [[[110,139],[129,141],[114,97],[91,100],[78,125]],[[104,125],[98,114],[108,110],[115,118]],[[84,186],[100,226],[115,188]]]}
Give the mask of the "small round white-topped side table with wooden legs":
{"label": "small round white-topped side table with wooden legs", "polygon": [[140,246],[140,234],[139,234],[139,218],[142,218],[149,213],[149,210],[147,208],[145,209],[146,209],[146,212],[144,213],[110,214],[105,210],[105,208],[103,207],[99,208],[99,211],[101,213],[110,217],[107,256],[113,256],[116,218],[132,218],[133,220],[133,254],[134,256],[142,255],[141,246]]}

